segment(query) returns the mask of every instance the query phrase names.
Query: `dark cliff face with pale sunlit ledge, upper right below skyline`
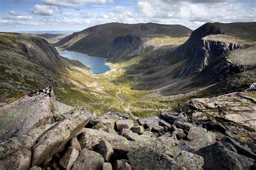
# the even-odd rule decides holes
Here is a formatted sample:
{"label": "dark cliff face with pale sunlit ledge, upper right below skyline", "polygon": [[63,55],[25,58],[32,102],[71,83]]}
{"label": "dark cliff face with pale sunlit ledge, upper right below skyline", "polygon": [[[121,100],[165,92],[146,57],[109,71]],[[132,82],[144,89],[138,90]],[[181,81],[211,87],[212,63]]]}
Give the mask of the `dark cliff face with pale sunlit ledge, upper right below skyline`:
{"label": "dark cliff face with pale sunlit ledge, upper right below skyline", "polygon": [[[217,56],[254,41],[256,23],[206,23],[191,33],[191,37],[176,53],[180,60],[188,59],[179,77],[201,72]],[[250,36],[251,35],[251,36]]]}

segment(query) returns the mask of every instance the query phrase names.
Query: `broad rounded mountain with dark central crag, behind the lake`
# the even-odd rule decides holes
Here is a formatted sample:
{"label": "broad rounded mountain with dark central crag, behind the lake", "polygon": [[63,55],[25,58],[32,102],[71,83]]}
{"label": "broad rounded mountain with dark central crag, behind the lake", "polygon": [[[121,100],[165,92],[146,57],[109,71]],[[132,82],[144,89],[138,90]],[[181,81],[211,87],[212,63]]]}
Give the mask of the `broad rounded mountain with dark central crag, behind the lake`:
{"label": "broad rounded mountain with dark central crag, behind the lake", "polygon": [[107,23],[75,32],[54,45],[110,60],[127,60],[149,49],[173,44],[173,39],[187,39],[191,32],[181,25]]}

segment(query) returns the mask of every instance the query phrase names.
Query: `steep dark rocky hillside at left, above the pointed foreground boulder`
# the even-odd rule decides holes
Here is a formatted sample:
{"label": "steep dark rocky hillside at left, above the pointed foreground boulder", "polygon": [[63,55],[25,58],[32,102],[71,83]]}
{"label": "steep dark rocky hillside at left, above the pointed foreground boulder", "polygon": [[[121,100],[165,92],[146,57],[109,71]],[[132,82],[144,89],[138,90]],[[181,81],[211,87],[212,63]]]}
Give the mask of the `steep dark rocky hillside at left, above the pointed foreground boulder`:
{"label": "steep dark rocky hillside at left, above the pointed foreground boulder", "polygon": [[0,33],[1,102],[45,86],[57,86],[53,74],[63,65],[57,50],[32,34]]}

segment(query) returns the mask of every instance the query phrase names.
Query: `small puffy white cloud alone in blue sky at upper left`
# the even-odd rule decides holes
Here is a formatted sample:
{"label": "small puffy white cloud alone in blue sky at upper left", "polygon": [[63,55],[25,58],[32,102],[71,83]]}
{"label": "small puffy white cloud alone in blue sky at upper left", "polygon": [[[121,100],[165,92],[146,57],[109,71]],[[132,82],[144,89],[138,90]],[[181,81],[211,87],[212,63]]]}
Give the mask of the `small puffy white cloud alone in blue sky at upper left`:
{"label": "small puffy white cloud alone in blue sky at upper left", "polygon": [[40,16],[53,16],[56,13],[60,13],[57,6],[38,5],[38,4],[35,5],[32,9],[30,9],[30,12]]}

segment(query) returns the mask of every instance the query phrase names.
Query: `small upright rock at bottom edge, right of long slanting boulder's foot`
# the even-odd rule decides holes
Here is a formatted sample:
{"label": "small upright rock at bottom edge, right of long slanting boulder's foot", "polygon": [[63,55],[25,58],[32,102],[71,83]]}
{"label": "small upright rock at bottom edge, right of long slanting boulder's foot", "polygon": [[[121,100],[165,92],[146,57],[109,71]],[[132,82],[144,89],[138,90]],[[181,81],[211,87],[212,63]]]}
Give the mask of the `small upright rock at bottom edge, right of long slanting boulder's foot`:
{"label": "small upright rock at bottom edge, right of long slanting boulder's foot", "polygon": [[79,155],[79,152],[70,146],[68,148],[68,151],[64,154],[62,159],[59,161],[59,165],[61,165],[65,169],[71,169],[73,163],[76,161],[77,157]]}

